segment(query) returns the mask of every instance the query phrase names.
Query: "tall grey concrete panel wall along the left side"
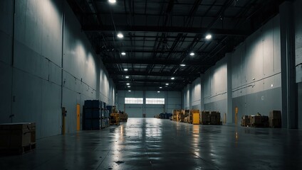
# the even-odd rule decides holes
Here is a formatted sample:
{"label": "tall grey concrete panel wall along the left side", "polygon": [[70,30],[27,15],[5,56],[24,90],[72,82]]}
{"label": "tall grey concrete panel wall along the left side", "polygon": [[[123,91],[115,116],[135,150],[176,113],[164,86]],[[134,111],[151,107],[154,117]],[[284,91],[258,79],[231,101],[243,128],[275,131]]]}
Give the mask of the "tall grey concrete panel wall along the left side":
{"label": "tall grey concrete panel wall along the left side", "polygon": [[76,104],[100,96],[115,102],[113,81],[66,1],[16,0],[13,46],[13,2],[0,2],[0,122],[36,122],[37,138],[58,135],[62,105],[66,132],[75,132]]}

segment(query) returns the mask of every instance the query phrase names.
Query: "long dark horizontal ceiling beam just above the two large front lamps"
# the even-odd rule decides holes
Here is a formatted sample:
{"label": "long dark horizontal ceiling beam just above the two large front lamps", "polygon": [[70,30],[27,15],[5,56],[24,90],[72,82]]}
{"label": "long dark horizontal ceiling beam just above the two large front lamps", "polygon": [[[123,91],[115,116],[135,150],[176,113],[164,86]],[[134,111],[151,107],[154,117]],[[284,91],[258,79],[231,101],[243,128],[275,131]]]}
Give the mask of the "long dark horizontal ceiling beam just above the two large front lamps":
{"label": "long dark horizontal ceiling beam just above the two large front lamps", "polygon": [[[200,33],[206,34],[210,31],[212,34],[217,35],[236,35],[236,36],[247,36],[249,35],[249,31],[246,30],[232,30],[232,29],[211,29],[208,28],[197,28],[197,27],[177,27],[177,26],[115,26],[119,30],[123,30],[123,32],[159,32],[159,33]],[[84,31],[113,31],[115,32],[113,26],[98,26],[98,25],[86,25],[83,26],[82,29]]]}

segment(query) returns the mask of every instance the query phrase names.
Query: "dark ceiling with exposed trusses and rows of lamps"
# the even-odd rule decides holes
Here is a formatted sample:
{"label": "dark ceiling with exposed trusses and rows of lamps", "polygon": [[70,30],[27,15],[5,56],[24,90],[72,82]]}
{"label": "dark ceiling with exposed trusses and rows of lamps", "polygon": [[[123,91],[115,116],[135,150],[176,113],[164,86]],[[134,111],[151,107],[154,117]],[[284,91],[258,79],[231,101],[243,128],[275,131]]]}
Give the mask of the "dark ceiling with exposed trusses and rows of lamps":
{"label": "dark ceiling with exposed trusses and rows of lamps", "polygon": [[[118,90],[180,91],[276,16],[283,1],[68,0],[68,4]],[[211,40],[205,39],[207,33]]]}

